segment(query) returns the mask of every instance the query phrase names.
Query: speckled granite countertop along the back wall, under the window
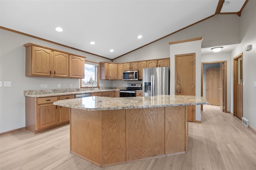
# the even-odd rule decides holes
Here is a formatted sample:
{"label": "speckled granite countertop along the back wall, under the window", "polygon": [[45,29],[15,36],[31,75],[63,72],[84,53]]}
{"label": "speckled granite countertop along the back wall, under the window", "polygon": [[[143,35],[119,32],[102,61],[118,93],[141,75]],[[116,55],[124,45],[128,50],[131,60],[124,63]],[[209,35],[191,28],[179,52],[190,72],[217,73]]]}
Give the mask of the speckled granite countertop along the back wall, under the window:
{"label": "speckled granite countertop along the back wall, under the window", "polygon": [[96,92],[109,92],[109,91],[119,91],[120,89],[99,89],[95,90],[88,89],[53,89],[53,90],[24,90],[24,96],[42,98],[51,96],[63,96],[72,94],[83,94],[83,93],[96,93]]}

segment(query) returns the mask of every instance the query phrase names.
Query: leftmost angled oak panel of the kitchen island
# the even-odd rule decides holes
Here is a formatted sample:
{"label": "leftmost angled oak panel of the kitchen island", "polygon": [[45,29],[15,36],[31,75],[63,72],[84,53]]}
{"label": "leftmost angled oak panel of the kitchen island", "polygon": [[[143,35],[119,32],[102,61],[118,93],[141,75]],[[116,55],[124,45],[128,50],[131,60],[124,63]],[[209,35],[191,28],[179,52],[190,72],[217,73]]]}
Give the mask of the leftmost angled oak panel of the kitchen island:
{"label": "leftmost angled oak panel of the kitchen island", "polygon": [[71,108],[70,152],[78,154],[98,166],[101,165],[100,111]]}

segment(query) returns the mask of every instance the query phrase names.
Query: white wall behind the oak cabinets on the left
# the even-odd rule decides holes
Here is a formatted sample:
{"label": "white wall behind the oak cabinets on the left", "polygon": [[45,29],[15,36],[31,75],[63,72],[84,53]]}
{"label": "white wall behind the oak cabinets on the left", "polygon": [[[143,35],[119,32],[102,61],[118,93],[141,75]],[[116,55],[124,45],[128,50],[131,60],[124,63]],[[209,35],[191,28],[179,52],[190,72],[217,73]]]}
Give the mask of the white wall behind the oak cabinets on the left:
{"label": "white wall behind the oak cabinets on the left", "polygon": [[[101,57],[82,53],[73,49],[48,43],[32,37],[27,37],[4,29],[0,29],[0,81],[11,81],[11,87],[0,87],[0,133],[25,127],[25,97],[24,90],[44,90],[61,88],[79,88],[79,79],[45,78],[25,76],[26,43],[34,43],[61,51],[86,57],[86,60],[99,62],[110,61]],[[40,84],[48,84],[48,88],[40,88]],[[110,80],[102,80],[104,86],[111,85]]]}

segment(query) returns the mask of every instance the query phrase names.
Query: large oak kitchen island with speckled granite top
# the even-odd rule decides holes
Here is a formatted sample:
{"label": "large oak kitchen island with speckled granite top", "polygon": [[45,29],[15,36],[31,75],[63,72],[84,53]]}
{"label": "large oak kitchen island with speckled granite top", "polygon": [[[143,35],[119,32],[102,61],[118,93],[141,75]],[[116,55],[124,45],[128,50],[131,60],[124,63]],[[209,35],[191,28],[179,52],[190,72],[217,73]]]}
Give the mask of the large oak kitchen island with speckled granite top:
{"label": "large oak kitchen island with speckled granite top", "polygon": [[186,152],[188,105],[197,96],[86,97],[54,102],[70,107],[70,152],[102,167]]}

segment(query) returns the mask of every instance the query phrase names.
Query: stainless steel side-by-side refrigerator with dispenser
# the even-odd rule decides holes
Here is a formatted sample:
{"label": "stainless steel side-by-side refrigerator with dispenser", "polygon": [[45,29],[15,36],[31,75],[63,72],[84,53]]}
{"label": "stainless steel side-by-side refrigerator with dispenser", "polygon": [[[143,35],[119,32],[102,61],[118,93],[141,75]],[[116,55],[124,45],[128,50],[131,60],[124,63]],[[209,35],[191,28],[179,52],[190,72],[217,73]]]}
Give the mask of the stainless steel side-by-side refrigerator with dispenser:
{"label": "stainless steel side-by-side refrigerator with dispenser", "polygon": [[143,96],[170,94],[169,67],[143,68]]}

